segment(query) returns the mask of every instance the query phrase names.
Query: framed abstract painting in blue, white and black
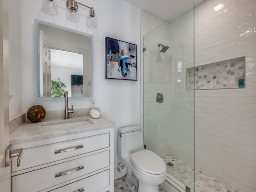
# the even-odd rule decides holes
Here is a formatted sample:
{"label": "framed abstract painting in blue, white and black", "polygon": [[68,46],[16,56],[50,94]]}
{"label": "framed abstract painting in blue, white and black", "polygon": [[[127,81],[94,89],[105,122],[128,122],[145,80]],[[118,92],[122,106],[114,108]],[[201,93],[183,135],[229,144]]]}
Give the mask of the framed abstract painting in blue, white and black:
{"label": "framed abstract painting in blue, white and black", "polygon": [[106,79],[137,80],[137,46],[106,37]]}

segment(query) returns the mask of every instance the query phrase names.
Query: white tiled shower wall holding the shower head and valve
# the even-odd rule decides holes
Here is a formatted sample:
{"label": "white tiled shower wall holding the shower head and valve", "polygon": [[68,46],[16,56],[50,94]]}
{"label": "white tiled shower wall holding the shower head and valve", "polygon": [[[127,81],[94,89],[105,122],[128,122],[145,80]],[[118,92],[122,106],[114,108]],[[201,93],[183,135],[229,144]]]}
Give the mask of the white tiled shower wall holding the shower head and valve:
{"label": "white tiled shower wall holding the shower head and valve", "polygon": [[[162,26],[158,33],[152,30],[163,24],[164,21],[141,11],[141,39],[142,48],[146,51],[141,58],[142,63],[142,125],[144,127],[144,144],[146,147],[160,156],[170,154],[170,58],[168,54],[162,54],[162,62],[157,62],[159,52],[158,43],[169,41],[168,26]],[[143,44],[144,40],[144,44]],[[162,47],[161,47],[162,48]],[[143,83],[144,82],[144,83]],[[164,95],[164,103],[156,102],[156,93]]]}

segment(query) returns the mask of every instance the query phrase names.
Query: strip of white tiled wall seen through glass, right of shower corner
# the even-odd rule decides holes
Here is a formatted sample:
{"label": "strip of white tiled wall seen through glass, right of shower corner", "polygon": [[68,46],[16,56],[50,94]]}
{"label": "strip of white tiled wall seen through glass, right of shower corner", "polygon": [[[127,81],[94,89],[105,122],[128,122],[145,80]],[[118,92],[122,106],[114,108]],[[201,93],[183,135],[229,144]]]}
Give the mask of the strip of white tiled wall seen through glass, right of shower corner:
{"label": "strip of white tiled wall seen through glass, right of shower corner", "polygon": [[[194,91],[186,91],[186,68],[194,64],[194,14],[190,10],[175,18],[170,22],[170,42],[168,42],[171,65],[170,152],[193,167]],[[192,188],[192,186],[188,187]]]}

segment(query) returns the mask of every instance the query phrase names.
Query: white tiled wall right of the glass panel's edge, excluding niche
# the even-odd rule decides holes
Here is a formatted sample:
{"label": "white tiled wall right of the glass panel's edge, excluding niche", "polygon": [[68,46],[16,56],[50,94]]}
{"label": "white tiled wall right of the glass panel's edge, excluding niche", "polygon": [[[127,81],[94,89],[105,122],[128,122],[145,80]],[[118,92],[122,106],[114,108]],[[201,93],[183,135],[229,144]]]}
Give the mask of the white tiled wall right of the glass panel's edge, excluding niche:
{"label": "white tiled wall right of the glass panel's edge, excluding niche", "polygon": [[[214,11],[218,5],[223,8]],[[246,56],[246,88],[195,91],[196,167],[255,192],[256,0],[196,7],[195,66],[240,56]]]}

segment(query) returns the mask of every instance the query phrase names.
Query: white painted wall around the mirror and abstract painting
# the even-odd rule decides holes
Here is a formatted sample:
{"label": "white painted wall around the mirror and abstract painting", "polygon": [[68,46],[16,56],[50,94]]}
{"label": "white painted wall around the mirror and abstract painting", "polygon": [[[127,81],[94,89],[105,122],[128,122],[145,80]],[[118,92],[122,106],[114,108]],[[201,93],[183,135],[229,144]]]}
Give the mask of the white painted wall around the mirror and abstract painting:
{"label": "white painted wall around the mirror and abstract painting", "polygon": [[[46,110],[65,108],[64,99],[57,100],[36,100],[34,98],[34,19],[44,20],[57,25],[79,30],[94,35],[94,99],[96,107],[100,108],[101,116],[116,123],[115,146],[117,140],[117,129],[127,125],[140,125],[140,9],[120,0],[80,0],[81,3],[93,6],[98,17],[99,27],[97,29],[88,28],[85,24],[85,15],[90,10],[80,8],[80,22],[74,23],[66,19],[65,0],[56,0],[58,4],[58,15],[51,16],[42,12],[41,1],[23,0],[21,33],[22,59],[15,63],[15,66],[22,65],[22,78],[17,81],[22,82],[22,91],[14,96],[22,97],[22,109],[10,103],[12,116],[19,112],[26,111],[34,104],[42,104]],[[18,20],[18,25],[20,21]],[[15,35],[15,34],[14,34]],[[13,35],[13,36],[14,36]],[[112,37],[137,44],[138,80],[106,80],[105,79],[105,37]],[[10,37],[12,41],[12,37]],[[16,39],[14,38],[14,41]],[[15,43],[15,42],[11,42]],[[12,51],[12,50],[11,50]],[[10,89],[15,89],[12,84]],[[11,101],[12,102],[12,101]],[[88,108],[89,100],[70,99],[70,106],[74,108]],[[118,158],[115,149],[115,165]]]}

